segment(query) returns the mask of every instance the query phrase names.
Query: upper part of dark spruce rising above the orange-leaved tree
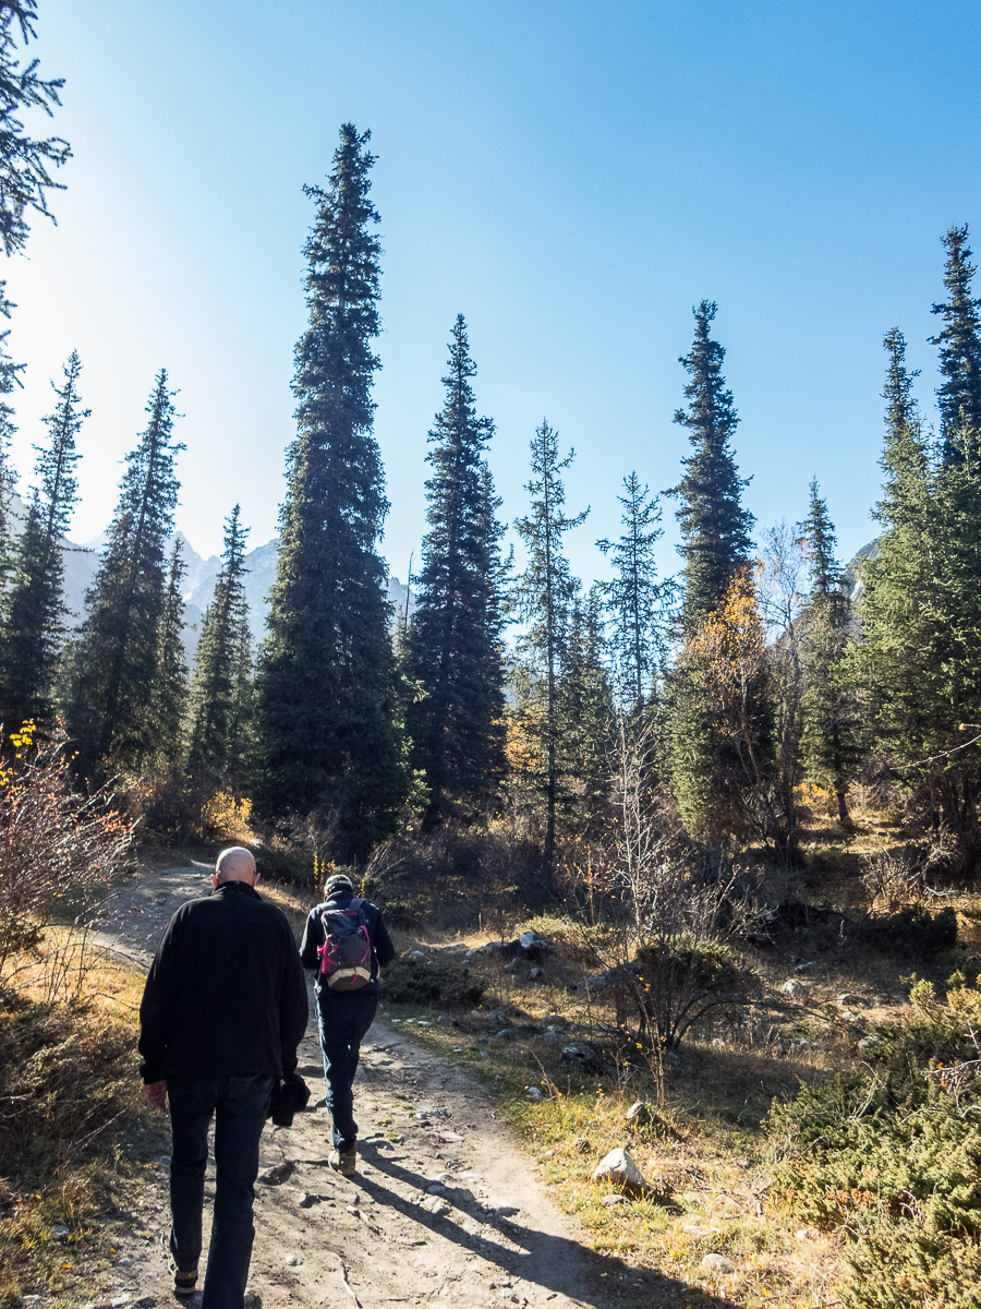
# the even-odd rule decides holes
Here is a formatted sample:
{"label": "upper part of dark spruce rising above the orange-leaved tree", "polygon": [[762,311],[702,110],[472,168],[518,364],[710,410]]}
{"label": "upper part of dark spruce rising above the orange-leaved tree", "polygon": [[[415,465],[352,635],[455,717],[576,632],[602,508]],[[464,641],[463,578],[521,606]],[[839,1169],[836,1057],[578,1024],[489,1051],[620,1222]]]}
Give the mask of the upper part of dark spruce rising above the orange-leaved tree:
{"label": "upper part of dark spruce rising above the orange-leaved tree", "polygon": [[680,359],[689,376],[684,389],[689,403],[675,412],[675,423],[688,428],[693,453],[681,459],[684,476],[667,492],[680,500],[685,631],[725,600],[732,576],[749,562],[755,522],[740,503],[749,483],[739,476],[730,446],[739,419],[722,376],[726,352],[709,335],[715,305],[702,300],[693,313],[695,343]]}

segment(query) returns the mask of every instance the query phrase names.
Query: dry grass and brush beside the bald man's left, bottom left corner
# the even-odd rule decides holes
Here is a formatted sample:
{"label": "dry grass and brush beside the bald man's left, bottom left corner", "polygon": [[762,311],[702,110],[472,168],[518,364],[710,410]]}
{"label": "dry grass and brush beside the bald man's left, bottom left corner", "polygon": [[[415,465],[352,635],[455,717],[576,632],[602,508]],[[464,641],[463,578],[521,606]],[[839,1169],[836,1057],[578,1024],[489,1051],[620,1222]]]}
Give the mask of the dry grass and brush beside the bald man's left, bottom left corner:
{"label": "dry grass and brush beside the bald man's left, bottom left corner", "polygon": [[162,1148],[136,1073],[143,978],[68,927],[16,965],[17,992],[0,995],[3,1309],[27,1293],[76,1302],[111,1254],[106,1215],[139,1207]]}

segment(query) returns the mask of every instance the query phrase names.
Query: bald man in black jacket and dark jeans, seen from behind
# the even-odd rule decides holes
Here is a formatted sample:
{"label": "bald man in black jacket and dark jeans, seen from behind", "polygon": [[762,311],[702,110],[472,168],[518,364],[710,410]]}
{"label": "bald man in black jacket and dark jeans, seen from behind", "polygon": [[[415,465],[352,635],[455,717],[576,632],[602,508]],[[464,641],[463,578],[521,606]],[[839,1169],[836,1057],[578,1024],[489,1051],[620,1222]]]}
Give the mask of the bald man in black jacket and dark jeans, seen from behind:
{"label": "bald man in black jacket and dark jeans, seen from behind", "polygon": [[259,1138],[276,1079],[297,1066],[309,1017],[293,931],[258,894],[258,880],[247,850],[218,855],[213,894],[171,918],[140,1005],[144,1093],[156,1109],[170,1100],[170,1251],[179,1296],[194,1295],[198,1282],[215,1118],[215,1217],[201,1309],[242,1309]]}

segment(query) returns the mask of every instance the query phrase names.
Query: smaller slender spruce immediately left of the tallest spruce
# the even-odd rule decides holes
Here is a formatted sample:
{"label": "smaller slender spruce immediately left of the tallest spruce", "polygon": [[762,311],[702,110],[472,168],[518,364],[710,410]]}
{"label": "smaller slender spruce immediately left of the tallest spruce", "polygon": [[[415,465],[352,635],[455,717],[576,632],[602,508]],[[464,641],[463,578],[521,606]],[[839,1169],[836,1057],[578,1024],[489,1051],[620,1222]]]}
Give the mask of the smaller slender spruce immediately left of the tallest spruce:
{"label": "smaller slender spruce immediately left of the tallest spruce", "polygon": [[221,571],[195,653],[187,759],[194,776],[217,774],[241,780],[246,762],[242,751],[252,681],[245,593],[247,530],[235,505],[225,522]]}

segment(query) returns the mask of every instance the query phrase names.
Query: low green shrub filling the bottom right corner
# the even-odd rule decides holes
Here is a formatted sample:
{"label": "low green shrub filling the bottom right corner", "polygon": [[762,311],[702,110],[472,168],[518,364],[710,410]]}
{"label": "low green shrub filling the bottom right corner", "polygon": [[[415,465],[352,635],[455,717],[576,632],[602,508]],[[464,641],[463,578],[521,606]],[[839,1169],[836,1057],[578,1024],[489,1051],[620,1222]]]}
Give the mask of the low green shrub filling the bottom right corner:
{"label": "low green shrub filling the bottom right corner", "polygon": [[914,1008],[870,1051],[871,1071],[773,1106],[774,1200],[846,1237],[848,1309],[981,1305],[981,992]]}

